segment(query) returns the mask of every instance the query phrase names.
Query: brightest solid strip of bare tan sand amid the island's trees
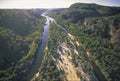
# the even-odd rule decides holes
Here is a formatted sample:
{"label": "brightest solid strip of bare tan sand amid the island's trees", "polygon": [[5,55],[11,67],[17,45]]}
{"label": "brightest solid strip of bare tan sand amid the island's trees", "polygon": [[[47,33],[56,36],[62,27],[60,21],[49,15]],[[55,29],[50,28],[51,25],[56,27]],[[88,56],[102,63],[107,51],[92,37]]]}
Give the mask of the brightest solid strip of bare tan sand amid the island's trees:
{"label": "brightest solid strip of bare tan sand amid the island's trees", "polygon": [[58,54],[60,54],[60,59],[57,60],[58,69],[65,72],[68,81],[71,80],[80,81],[80,79],[77,76],[74,64],[71,61],[72,59],[71,50],[66,46],[65,43],[61,44],[61,49],[62,50],[60,49],[57,50]]}

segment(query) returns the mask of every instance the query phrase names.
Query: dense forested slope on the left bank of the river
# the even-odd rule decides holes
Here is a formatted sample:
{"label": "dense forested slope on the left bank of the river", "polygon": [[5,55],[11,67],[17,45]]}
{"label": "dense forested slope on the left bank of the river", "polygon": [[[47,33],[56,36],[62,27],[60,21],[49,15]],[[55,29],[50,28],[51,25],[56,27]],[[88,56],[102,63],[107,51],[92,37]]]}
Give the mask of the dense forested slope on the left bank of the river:
{"label": "dense forested slope on the left bank of the river", "polygon": [[0,81],[26,81],[41,41],[44,10],[0,10]]}

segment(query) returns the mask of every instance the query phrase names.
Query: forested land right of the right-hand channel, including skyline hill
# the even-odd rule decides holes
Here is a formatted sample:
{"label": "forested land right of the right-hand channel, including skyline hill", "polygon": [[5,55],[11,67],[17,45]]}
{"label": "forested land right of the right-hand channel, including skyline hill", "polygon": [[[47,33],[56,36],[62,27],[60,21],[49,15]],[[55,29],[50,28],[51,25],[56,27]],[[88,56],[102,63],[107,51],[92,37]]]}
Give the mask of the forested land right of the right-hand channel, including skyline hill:
{"label": "forested land right of the right-hand channel, including skyline hill", "polygon": [[76,3],[48,15],[89,51],[107,81],[120,80],[120,7]]}

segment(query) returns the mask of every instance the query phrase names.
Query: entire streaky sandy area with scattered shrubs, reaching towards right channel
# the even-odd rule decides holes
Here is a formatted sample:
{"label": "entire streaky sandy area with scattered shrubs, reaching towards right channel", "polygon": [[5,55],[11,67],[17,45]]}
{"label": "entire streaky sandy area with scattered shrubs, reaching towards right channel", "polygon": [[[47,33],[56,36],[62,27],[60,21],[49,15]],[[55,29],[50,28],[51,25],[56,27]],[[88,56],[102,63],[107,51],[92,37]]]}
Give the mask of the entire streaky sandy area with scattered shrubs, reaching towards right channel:
{"label": "entire streaky sandy area with scattered shrubs, reaching towards right channel", "polygon": [[[68,39],[67,43],[59,43],[57,48],[59,58],[52,56],[57,68],[65,73],[68,81],[97,81],[95,75],[92,75],[92,66],[80,52],[84,51],[81,44],[71,34],[68,34]],[[68,44],[68,42],[70,43]],[[84,62],[82,63],[82,61]]]}

